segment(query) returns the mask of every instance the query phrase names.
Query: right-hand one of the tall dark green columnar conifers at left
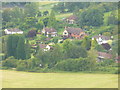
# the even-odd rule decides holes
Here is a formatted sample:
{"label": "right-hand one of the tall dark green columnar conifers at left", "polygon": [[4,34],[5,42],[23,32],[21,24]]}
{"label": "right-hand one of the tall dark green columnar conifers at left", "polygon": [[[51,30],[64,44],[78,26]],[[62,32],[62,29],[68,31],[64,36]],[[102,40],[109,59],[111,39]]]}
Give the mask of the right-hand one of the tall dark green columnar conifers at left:
{"label": "right-hand one of the tall dark green columnar conifers at left", "polygon": [[17,59],[26,59],[25,54],[25,40],[23,36],[19,37],[18,44],[17,44]]}

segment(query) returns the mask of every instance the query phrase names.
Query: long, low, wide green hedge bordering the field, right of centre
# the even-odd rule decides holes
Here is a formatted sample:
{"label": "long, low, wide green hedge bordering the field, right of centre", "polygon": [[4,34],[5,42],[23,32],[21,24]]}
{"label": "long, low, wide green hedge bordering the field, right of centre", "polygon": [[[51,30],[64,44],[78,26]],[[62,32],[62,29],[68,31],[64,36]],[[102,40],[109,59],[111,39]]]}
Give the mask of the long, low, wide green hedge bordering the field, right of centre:
{"label": "long, low, wide green hedge bordering the field, right of centre", "polygon": [[86,58],[67,59],[55,65],[58,70],[63,71],[89,71],[90,61]]}

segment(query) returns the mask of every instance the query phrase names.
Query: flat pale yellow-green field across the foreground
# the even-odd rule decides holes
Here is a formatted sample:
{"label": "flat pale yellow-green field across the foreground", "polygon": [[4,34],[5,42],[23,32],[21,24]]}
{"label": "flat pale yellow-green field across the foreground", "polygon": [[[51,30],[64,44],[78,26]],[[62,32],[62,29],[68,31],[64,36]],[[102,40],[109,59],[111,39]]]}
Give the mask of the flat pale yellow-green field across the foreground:
{"label": "flat pale yellow-green field across the foreground", "polygon": [[3,70],[2,85],[3,88],[117,88],[118,75]]}

